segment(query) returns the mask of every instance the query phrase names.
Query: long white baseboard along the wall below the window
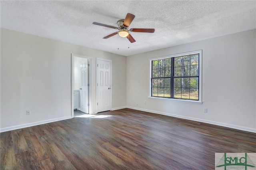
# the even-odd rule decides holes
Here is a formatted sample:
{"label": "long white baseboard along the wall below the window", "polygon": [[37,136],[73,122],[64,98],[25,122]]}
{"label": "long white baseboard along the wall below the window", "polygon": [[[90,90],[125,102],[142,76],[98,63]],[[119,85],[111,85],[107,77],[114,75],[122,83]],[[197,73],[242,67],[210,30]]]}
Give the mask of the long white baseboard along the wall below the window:
{"label": "long white baseboard along the wall below the window", "polygon": [[190,121],[197,121],[197,122],[208,123],[208,124],[212,124],[212,125],[218,125],[218,126],[222,126],[222,127],[234,128],[234,129],[238,129],[238,130],[244,130],[244,131],[247,131],[247,132],[254,132],[254,133],[256,133],[256,128],[241,127],[241,126],[237,126],[237,125],[230,125],[230,124],[227,124],[227,123],[208,121],[208,120],[204,120],[204,119],[198,119],[198,118],[193,118],[193,117],[174,115],[174,114],[170,114],[170,113],[152,111],[152,110],[141,109],[141,108],[136,108],[136,107],[127,107],[127,108],[138,110],[138,111],[145,111],[145,112],[150,112],[150,113],[156,113],[156,114],[159,114],[159,115],[166,115],[166,116],[171,116],[171,117],[177,117],[177,118],[181,118],[181,119],[187,119],[187,120],[190,120]]}

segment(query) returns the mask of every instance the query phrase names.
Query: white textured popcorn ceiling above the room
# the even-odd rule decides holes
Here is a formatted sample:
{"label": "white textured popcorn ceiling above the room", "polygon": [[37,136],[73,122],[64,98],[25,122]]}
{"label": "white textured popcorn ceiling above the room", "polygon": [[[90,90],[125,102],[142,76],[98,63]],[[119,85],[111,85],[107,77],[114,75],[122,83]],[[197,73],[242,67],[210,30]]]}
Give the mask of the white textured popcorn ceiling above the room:
{"label": "white textured popcorn ceiling above the room", "polygon": [[[2,1],[1,27],[100,49],[133,55],[256,28],[256,1]],[[115,35],[127,13],[130,28],[155,28],[154,33]],[[128,48],[129,47],[129,48]],[[119,48],[119,49],[118,49]]]}

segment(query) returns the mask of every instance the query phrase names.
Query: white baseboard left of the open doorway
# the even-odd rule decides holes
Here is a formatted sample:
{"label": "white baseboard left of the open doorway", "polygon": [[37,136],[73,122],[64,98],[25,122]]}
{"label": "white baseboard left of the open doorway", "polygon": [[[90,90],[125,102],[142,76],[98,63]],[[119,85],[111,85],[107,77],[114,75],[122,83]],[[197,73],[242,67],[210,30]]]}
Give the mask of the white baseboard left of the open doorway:
{"label": "white baseboard left of the open doorway", "polygon": [[45,124],[45,123],[52,123],[52,122],[62,121],[62,120],[71,119],[71,118],[72,118],[72,116],[66,116],[66,117],[60,117],[60,118],[56,118],[56,119],[49,119],[49,120],[46,120],[46,121],[40,121],[40,122],[27,123],[27,124],[23,124],[23,125],[12,126],[12,127],[6,127],[6,128],[1,128],[0,132],[7,132],[7,131],[10,131],[10,130],[32,127],[32,126],[36,126],[36,125],[42,125],[42,124]]}

